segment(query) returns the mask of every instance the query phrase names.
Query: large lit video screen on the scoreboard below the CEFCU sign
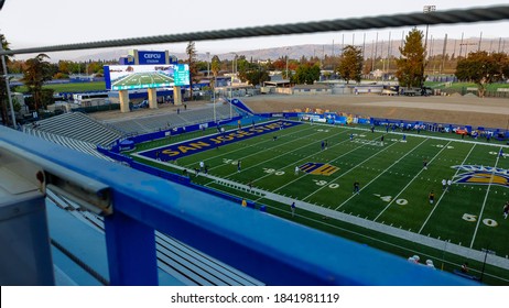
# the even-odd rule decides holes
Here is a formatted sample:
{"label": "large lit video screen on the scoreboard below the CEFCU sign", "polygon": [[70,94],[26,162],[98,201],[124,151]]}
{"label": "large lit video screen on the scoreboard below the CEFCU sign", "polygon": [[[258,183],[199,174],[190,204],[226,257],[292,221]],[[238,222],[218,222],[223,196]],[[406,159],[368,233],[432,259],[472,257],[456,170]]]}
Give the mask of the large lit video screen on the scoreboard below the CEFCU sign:
{"label": "large lit video screen on the scoreboard below the CEFCU sign", "polygon": [[189,85],[187,64],[105,66],[106,88],[133,90]]}

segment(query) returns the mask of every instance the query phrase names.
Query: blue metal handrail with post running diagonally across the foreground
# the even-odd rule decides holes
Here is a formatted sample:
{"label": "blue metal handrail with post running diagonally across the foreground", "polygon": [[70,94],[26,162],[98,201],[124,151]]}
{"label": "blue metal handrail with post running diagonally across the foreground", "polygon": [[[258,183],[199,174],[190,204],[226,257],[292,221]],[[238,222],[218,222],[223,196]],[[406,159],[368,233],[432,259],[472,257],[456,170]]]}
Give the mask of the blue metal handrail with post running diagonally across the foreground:
{"label": "blue metal handrail with post running diagonally across the foreground", "polygon": [[105,231],[111,285],[158,285],[154,230],[267,285],[477,285],[0,127],[0,151],[7,145],[43,169],[56,165],[109,187],[113,210],[105,217]]}

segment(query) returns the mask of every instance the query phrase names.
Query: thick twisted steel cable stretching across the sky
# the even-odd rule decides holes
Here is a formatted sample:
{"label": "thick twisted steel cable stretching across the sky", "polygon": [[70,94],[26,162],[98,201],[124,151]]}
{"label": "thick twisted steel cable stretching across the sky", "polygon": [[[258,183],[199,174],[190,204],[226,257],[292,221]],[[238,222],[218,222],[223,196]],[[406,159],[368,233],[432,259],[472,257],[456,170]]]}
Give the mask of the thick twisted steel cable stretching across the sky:
{"label": "thick twisted steel cable stretching across the sky", "polygon": [[214,30],[182,34],[166,34],[133,38],[98,41],[53,45],[45,47],[30,47],[21,50],[0,51],[0,55],[33,54],[47,52],[63,52],[77,50],[94,50],[121,46],[153,45],[183,43],[189,41],[214,41],[240,37],[259,37],[285,34],[305,34],[332,31],[351,31],[383,28],[399,28],[409,25],[434,25],[453,23],[472,23],[509,20],[509,6],[474,8],[465,10],[433,11],[429,13],[408,13],[394,15],[351,18],[344,20],[325,20],[317,22],[302,22],[290,24],[262,25],[230,30]]}

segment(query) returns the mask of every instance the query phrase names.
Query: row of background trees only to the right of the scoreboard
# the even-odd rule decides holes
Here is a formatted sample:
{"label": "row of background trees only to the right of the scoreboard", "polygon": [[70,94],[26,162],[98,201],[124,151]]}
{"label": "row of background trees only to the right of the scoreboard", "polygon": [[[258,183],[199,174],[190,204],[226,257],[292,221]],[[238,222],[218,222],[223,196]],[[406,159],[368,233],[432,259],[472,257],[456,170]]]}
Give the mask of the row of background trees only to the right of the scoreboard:
{"label": "row of background trees only to the right of the scoreboard", "polygon": [[[455,57],[455,55],[435,55],[429,57],[425,43],[423,44],[423,33],[416,28],[412,29],[404,37],[403,44],[399,47],[401,56],[399,58],[367,58],[362,55],[362,50],[358,46],[347,45],[343,48],[340,56],[324,56],[323,59],[313,56],[300,59],[290,59],[288,56],[275,61],[253,62],[246,56],[237,56],[232,61],[221,61],[217,55],[212,58],[212,69],[214,77],[221,70],[227,70],[237,63],[237,76],[242,82],[250,85],[261,85],[269,80],[269,72],[280,70],[283,78],[291,84],[313,84],[320,80],[323,69],[329,69],[336,78],[342,78],[346,82],[360,82],[362,78],[377,68],[382,63],[386,74],[398,79],[399,85],[405,88],[423,87],[427,78],[426,67],[433,67],[433,73],[437,67],[440,73],[451,72],[462,81],[475,82],[478,86],[479,97],[486,91],[486,86],[492,82],[507,80],[509,78],[509,56],[506,53],[488,53],[486,51],[470,52],[466,57]],[[191,46],[191,47],[189,47]],[[196,48],[194,42],[189,42],[187,63],[195,69],[191,70],[192,79],[197,81],[201,77],[198,70],[205,70],[206,62],[196,61]],[[189,53],[191,52],[191,53]],[[192,55],[192,56],[191,56]],[[447,65],[448,66],[447,66]],[[392,68],[389,69],[389,67]],[[427,70],[429,72],[429,70]],[[328,76],[325,76],[328,77]]]}

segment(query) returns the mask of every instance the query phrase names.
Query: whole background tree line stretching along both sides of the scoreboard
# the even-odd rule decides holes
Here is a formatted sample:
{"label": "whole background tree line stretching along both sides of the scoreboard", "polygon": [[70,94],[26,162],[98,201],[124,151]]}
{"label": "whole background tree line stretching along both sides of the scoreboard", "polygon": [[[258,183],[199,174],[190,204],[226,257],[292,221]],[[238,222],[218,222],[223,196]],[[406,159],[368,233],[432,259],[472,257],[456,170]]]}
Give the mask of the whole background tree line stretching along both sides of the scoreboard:
{"label": "whole background tree line stretching along both sides of the scoreboard", "polygon": [[[2,34],[0,34],[0,42],[4,50],[9,50],[9,43]],[[456,64],[453,72],[459,80],[477,84],[479,97],[484,96],[487,85],[507,80],[509,77],[509,56],[506,53],[476,51],[470,52],[466,57],[455,58],[454,55],[446,58],[442,58],[442,56],[427,57],[423,45],[423,33],[416,28],[407,34],[399,51],[401,54],[399,58],[387,59],[387,68],[392,68],[391,74],[398,79],[401,87],[422,87],[427,77],[425,68],[431,63],[433,63],[433,66],[442,65],[445,68],[444,63],[446,59]],[[379,68],[380,62],[383,62],[381,58],[365,59],[362,50],[353,45],[345,46],[340,56],[324,56],[324,58],[302,56],[294,59],[281,56],[274,61],[260,62],[254,61],[252,57],[248,59],[245,55],[235,55],[231,61],[221,61],[219,56],[214,55],[210,63],[208,63],[197,61],[195,43],[189,42],[186,54],[187,58],[180,62],[189,65],[191,91],[193,90],[193,84],[198,82],[204,77],[201,72],[207,69],[214,77],[218,77],[224,72],[235,70],[242,82],[258,86],[270,79],[269,73],[272,70],[282,72],[282,77],[291,84],[311,85],[320,80],[322,70],[327,68],[329,72],[325,73],[323,77],[342,78],[348,84],[350,81],[360,82],[373,69]],[[44,108],[53,97],[51,89],[43,89],[45,81],[68,78],[73,74],[102,76],[104,65],[118,63],[117,61],[59,61],[55,64],[50,63],[50,58],[45,54],[40,54],[26,61],[15,61],[9,56],[6,58],[10,74],[23,74],[21,81],[24,82],[32,95],[31,108],[34,110]],[[235,68],[232,67],[234,65]],[[6,75],[2,67],[0,67],[0,73],[2,76]],[[210,87],[215,87],[215,79],[210,80]],[[7,88],[6,82],[2,80],[0,82],[0,114],[3,123],[9,122],[7,102]]]}

